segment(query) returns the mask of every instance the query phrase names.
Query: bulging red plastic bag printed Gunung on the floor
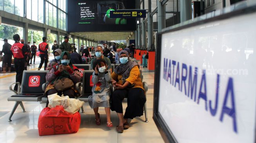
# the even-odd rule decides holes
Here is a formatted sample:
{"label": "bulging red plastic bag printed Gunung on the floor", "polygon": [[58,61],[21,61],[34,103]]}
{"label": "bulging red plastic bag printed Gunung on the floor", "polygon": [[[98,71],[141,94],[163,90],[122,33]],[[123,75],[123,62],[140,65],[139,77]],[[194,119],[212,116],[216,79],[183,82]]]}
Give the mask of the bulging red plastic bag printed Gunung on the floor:
{"label": "bulging red plastic bag printed Gunung on the floor", "polygon": [[69,114],[63,106],[44,108],[38,119],[39,136],[76,133],[80,127],[80,113]]}

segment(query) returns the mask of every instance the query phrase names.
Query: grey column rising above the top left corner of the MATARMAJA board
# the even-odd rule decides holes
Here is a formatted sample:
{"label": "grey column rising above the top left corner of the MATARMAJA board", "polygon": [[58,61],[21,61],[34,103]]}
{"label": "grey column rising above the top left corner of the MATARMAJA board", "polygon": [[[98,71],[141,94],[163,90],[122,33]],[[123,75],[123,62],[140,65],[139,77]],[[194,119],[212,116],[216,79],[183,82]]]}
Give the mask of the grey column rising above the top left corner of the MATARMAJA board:
{"label": "grey column rising above the top left corner of the MATARMAJA board", "polygon": [[[182,0],[181,0],[182,1]],[[190,1],[191,4],[191,1]],[[158,18],[158,32],[162,32],[165,28],[165,6],[162,6],[160,0],[157,0],[157,18]]]}

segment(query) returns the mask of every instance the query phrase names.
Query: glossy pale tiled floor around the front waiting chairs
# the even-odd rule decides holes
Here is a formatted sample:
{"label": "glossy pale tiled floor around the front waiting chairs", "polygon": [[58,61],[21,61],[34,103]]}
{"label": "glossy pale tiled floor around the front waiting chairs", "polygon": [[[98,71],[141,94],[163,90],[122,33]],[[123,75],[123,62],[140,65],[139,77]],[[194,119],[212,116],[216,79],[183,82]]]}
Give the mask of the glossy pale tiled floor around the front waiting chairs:
{"label": "glossy pale tiled floor around the front waiting chairs", "polygon": [[[38,63],[38,62],[37,62]],[[36,69],[30,66],[29,69]],[[10,73],[9,73],[10,74]],[[162,143],[163,139],[152,119],[153,116],[153,84],[154,73],[147,72],[143,68],[143,81],[149,85],[147,92],[147,112],[149,122],[145,123],[145,116],[131,120],[131,128],[122,134],[117,133],[115,126],[118,118],[115,112],[111,112],[111,120],[114,127],[106,127],[106,116],[104,108],[99,109],[102,125],[95,125],[94,112],[89,104],[84,104],[85,113],[81,113],[80,129],[75,134],[63,134],[53,136],[38,135],[38,116],[45,104],[39,102],[23,102],[26,112],[23,113],[20,106],[12,117],[12,122],[7,122],[10,111],[15,102],[8,102],[7,97],[13,95],[9,91],[9,84],[15,81],[15,75],[0,75],[0,143]],[[7,75],[7,77],[4,77]],[[2,78],[1,78],[2,77]],[[123,109],[126,107],[123,104]]]}

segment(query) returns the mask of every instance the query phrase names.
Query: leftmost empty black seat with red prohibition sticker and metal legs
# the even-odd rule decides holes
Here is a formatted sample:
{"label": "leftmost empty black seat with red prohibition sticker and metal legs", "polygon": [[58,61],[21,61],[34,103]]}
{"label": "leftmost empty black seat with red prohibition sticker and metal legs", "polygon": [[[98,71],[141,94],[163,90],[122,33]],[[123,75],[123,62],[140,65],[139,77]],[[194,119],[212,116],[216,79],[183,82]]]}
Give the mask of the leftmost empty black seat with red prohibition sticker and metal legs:
{"label": "leftmost empty black seat with red prohibition sticker and metal legs", "polygon": [[[9,89],[16,93],[8,97],[8,101],[15,101],[11,115],[9,116],[8,122],[11,122],[11,117],[13,116],[18,105],[22,107],[23,112],[25,112],[24,105],[22,101],[33,101],[38,102],[44,97],[44,91],[42,90],[43,84],[46,82],[45,76],[49,71],[23,71],[22,83],[14,82],[9,85]],[[12,86],[18,84],[18,91],[14,91]]]}

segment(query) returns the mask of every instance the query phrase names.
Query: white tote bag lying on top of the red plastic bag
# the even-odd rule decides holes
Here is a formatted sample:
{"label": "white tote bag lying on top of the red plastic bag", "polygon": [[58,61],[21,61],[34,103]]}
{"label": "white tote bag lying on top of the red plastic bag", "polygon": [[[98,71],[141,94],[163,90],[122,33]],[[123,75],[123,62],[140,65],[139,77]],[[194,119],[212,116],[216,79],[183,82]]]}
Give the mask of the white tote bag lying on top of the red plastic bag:
{"label": "white tote bag lying on top of the red plastic bag", "polygon": [[49,108],[53,108],[56,105],[62,105],[64,110],[68,113],[74,114],[76,113],[84,104],[84,101],[80,101],[78,99],[69,98],[69,96],[62,96],[60,97],[57,93],[48,95]]}

